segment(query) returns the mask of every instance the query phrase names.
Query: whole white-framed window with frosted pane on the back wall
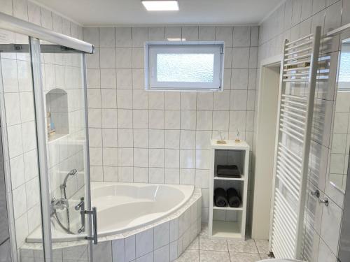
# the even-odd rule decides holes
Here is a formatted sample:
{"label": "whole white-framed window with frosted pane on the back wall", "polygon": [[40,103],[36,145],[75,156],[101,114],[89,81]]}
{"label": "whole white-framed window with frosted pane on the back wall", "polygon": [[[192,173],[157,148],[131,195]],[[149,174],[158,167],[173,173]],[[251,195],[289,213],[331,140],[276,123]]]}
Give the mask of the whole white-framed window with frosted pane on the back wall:
{"label": "whole white-framed window with frosted pane on the back wall", "polygon": [[223,42],[146,42],[148,90],[223,90]]}

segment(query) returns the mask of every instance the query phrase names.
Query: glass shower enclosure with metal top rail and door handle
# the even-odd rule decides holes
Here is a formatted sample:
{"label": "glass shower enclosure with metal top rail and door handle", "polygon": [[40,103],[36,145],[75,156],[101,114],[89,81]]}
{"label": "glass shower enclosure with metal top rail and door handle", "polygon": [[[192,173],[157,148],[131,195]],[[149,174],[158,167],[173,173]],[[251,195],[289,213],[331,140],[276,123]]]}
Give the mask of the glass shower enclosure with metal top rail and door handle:
{"label": "glass shower enclosure with metal top rail and door handle", "polygon": [[[28,242],[97,243],[91,208],[85,54],[93,46],[0,13],[0,118],[13,261]],[[85,242],[84,242],[85,241]],[[54,247],[55,249],[55,247]]]}

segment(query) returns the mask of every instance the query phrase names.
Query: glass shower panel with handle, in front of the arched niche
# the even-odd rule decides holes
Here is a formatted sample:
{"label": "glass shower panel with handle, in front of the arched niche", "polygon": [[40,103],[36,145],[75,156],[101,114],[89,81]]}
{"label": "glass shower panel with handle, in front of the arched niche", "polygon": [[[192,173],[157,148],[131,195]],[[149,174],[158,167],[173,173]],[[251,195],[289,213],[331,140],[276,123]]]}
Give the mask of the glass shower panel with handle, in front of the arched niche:
{"label": "glass shower panel with handle, in front of the arched niche", "polygon": [[[41,43],[52,242],[83,240],[90,210],[84,54]],[[87,252],[87,249],[86,249]]]}

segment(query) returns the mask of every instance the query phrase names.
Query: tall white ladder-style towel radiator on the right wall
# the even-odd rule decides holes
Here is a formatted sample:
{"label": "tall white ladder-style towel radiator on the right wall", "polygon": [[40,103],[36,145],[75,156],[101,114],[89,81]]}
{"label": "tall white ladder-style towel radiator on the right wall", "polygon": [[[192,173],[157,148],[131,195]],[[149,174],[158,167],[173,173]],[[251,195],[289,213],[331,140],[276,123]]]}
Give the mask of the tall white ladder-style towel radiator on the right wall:
{"label": "tall white ladder-style towel radiator on the right wall", "polygon": [[311,122],[321,27],[285,41],[276,127],[270,250],[277,259],[300,259]]}

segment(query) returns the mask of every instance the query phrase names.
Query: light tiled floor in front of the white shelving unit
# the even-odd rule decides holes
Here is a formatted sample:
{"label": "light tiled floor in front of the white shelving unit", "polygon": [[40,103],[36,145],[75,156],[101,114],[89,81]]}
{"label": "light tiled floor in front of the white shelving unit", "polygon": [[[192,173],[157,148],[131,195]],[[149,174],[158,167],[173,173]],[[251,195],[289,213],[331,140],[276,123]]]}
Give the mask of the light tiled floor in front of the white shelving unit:
{"label": "light tiled floor in front of the white shelving unit", "polygon": [[208,238],[207,226],[176,262],[255,262],[268,259],[267,240],[221,240]]}

